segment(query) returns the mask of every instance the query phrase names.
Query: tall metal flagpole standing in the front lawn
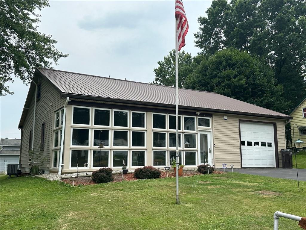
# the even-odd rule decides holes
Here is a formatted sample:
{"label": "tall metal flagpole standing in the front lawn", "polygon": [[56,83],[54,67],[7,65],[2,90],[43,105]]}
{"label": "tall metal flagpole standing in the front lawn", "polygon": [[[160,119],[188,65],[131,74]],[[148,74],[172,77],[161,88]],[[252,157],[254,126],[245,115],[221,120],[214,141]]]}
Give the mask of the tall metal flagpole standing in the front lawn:
{"label": "tall metal flagpole standing in the front lawn", "polygon": [[178,197],[178,167],[179,167],[179,158],[178,158],[178,58],[177,58],[177,20],[175,18],[175,133],[176,133],[176,203],[180,203]]}

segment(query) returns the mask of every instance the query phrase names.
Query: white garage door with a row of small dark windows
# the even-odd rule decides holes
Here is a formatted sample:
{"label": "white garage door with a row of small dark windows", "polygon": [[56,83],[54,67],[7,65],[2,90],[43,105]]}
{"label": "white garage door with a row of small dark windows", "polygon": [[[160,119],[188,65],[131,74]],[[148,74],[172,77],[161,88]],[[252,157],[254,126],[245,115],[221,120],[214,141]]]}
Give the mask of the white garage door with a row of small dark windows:
{"label": "white garage door with a row of small dark windows", "polygon": [[242,167],[275,167],[272,124],[240,123]]}

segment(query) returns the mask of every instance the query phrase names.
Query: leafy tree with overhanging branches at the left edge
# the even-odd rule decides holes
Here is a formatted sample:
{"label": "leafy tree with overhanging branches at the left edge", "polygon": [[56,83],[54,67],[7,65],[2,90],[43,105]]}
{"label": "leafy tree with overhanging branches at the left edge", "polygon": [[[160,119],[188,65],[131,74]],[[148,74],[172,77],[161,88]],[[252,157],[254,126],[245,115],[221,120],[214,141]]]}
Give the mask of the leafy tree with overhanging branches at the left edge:
{"label": "leafy tree with overhanging branches at the left edge", "polygon": [[6,85],[14,81],[13,75],[29,84],[35,67],[50,67],[52,61],[57,65],[68,56],[55,48],[51,35],[37,31],[37,11],[48,6],[47,0],[1,1],[0,96],[13,94]]}

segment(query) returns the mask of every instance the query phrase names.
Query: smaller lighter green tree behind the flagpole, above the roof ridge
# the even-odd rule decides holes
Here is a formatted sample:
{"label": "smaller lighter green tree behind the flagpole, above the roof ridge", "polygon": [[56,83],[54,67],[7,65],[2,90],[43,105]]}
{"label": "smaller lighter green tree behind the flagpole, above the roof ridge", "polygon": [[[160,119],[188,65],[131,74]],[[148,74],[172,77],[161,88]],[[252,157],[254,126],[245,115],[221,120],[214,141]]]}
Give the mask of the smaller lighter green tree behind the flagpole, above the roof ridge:
{"label": "smaller lighter green tree behind the flagpole, above the roof ridge", "polygon": [[[163,61],[154,69],[154,84],[175,86],[175,50],[169,52]],[[185,51],[178,52],[178,87],[184,87],[185,79],[192,72],[192,56]]]}

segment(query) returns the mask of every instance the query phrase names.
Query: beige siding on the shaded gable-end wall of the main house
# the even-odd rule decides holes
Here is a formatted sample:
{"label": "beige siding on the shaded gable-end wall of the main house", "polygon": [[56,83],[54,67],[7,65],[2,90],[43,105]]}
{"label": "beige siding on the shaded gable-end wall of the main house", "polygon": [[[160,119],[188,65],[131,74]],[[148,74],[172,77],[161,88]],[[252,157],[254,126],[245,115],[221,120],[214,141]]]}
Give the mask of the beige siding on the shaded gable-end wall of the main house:
{"label": "beige siding on the shaded gable-end wall of the main house", "polygon": [[[34,86],[35,87],[35,86]],[[23,125],[21,164],[22,168],[29,168],[28,150],[29,133],[33,128],[34,102],[36,100],[35,90],[31,98],[27,116]],[[49,170],[51,166],[52,139],[53,139],[53,116],[54,112],[64,106],[65,99],[60,98],[60,93],[44,77],[41,79],[41,96],[36,102],[35,129],[34,129],[34,153],[40,149],[41,125],[45,123],[45,143],[41,155],[47,158],[43,164],[44,170]],[[31,148],[31,147],[30,147]],[[24,169],[26,171],[26,169]]]}

